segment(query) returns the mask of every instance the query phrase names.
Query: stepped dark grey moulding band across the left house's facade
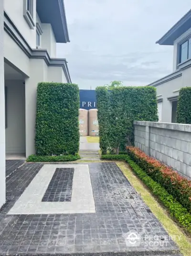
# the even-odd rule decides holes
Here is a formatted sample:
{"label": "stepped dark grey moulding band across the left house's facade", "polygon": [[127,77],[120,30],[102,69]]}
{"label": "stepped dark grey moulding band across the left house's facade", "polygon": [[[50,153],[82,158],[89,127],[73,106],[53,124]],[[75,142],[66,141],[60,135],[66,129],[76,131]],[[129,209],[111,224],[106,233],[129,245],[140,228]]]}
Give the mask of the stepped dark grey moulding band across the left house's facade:
{"label": "stepped dark grey moulding band across the left house's facade", "polygon": [[5,11],[4,11],[4,30],[7,32],[8,35],[11,36],[12,40],[15,41],[15,43],[21,48],[21,50],[29,58],[43,58],[47,66],[62,67],[67,82],[72,83],[69,70],[67,67],[66,59],[50,58],[50,55],[48,54],[46,49],[32,49]]}

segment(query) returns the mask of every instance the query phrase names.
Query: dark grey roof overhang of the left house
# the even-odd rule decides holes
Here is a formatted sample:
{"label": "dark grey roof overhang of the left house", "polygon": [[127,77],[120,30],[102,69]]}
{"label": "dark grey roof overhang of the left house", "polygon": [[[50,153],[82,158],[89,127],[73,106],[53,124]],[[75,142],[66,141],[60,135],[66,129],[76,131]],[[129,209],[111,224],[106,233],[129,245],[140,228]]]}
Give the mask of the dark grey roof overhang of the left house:
{"label": "dark grey roof overhang of the left house", "polygon": [[64,0],[37,0],[36,10],[42,23],[50,23],[57,43],[70,42]]}

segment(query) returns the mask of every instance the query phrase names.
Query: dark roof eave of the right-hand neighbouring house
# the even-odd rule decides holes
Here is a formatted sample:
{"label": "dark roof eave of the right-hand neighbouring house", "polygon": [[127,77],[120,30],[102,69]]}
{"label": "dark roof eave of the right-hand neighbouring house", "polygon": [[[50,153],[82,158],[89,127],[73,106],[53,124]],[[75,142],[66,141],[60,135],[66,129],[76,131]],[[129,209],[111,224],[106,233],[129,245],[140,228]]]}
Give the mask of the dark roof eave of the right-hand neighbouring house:
{"label": "dark roof eave of the right-hand neighbouring house", "polygon": [[191,10],[187,12],[170,30],[163,35],[156,44],[170,45],[174,44],[174,41],[191,28]]}

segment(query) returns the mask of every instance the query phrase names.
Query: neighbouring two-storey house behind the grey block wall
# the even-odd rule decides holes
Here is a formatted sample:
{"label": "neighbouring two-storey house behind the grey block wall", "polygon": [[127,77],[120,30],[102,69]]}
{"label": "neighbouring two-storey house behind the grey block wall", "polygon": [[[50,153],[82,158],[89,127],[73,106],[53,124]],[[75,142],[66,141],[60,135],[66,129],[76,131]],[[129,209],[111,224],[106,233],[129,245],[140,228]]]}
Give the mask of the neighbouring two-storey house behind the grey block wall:
{"label": "neighbouring two-storey house behind the grey block wall", "polygon": [[173,73],[149,86],[157,88],[159,121],[175,123],[180,88],[191,86],[191,10],[157,43],[174,47]]}

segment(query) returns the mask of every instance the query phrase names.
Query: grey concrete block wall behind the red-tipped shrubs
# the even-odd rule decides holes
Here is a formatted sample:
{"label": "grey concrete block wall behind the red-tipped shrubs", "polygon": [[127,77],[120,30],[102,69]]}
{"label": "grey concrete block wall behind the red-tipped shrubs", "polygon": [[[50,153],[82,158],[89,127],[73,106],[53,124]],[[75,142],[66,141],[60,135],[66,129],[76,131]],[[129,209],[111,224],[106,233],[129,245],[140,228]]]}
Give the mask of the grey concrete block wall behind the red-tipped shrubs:
{"label": "grey concrete block wall behind the red-tipped shrubs", "polygon": [[135,146],[191,178],[191,125],[134,122]]}

